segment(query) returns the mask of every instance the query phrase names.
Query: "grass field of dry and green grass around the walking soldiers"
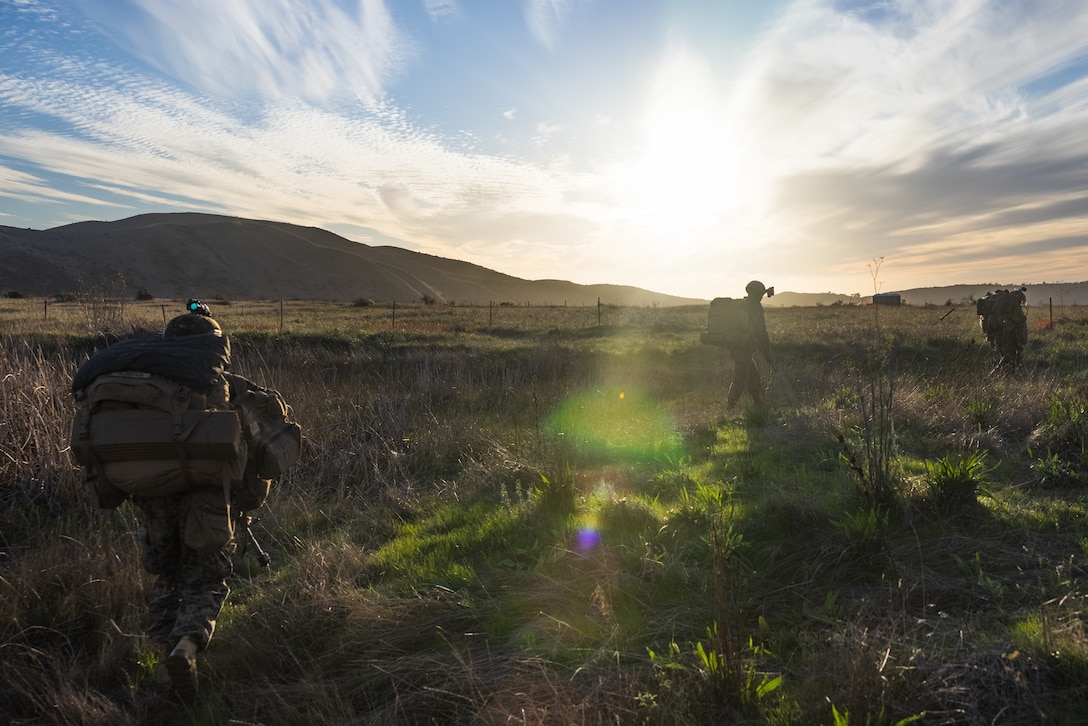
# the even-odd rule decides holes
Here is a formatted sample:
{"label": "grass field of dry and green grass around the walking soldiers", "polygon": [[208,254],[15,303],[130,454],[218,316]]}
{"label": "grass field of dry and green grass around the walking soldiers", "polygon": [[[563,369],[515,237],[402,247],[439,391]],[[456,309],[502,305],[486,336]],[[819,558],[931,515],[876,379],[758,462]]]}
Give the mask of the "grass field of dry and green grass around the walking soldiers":
{"label": "grass field of dry and green grass around the walking soldiers", "polygon": [[966,307],[768,309],[729,410],[702,307],[209,305],[306,441],[186,714],[67,448],[75,369],[181,305],[0,300],[12,724],[1085,722],[1088,308],[1014,376]]}

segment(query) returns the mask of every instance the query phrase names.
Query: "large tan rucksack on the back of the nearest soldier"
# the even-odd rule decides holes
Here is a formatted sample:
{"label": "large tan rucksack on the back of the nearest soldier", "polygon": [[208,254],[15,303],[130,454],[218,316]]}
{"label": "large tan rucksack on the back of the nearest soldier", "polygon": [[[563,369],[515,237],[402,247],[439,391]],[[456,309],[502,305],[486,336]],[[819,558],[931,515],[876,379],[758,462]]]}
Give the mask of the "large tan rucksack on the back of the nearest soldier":
{"label": "large tan rucksack on the back of the nearest soldier", "polygon": [[[169,496],[240,479],[246,443],[228,409],[221,335],[131,339],[76,371],[71,445],[98,502]],[[222,493],[221,493],[222,497]]]}

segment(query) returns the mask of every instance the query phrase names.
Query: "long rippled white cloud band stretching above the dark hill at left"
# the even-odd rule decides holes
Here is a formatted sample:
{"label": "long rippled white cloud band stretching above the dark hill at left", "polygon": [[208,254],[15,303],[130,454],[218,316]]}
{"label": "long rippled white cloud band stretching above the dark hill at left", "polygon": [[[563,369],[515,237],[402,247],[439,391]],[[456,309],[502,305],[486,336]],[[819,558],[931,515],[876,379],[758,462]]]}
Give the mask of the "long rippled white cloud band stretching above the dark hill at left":
{"label": "long rippled white cloud band stretching above the dark hill at left", "polygon": [[[456,249],[480,229],[454,221],[561,209],[561,180],[511,160],[454,151],[448,139],[384,103],[349,118],[281,102],[247,123],[232,115],[230,103],[217,108],[158,84],[10,77],[0,77],[0,99],[77,132],[0,134],[0,156],[34,159],[44,174],[94,180],[79,196],[108,189],[103,205],[135,205],[159,189],[168,207],[380,229],[435,254]],[[8,174],[9,196],[47,194],[36,177]],[[496,221],[490,229],[502,226]],[[545,234],[537,227],[530,236]]]}

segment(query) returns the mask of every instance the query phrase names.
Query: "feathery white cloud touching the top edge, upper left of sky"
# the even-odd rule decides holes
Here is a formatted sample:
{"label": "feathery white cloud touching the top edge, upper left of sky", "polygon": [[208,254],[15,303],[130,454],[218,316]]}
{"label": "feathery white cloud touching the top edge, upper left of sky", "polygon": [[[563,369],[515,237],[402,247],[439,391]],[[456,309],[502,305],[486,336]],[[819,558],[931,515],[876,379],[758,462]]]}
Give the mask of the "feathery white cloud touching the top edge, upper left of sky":
{"label": "feathery white cloud touching the top edge, upper left of sky", "polygon": [[[411,57],[381,0],[347,8],[334,0],[84,2],[131,4],[137,12],[103,30],[152,67],[214,96],[371,100]],[[452,8],[428,3],[432,13]]]}

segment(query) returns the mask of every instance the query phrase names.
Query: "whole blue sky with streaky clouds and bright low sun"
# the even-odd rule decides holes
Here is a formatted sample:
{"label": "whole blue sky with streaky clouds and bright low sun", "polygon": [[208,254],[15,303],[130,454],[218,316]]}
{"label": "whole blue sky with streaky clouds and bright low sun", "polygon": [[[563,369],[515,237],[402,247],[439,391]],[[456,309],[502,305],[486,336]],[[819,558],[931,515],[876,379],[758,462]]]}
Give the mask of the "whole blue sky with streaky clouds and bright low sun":
{"label": "whole blue sky with streaky clouds and bright low sun", "polygon": [[1088,2],[0,0],[0,224],[152,211],[696,297],[1084,281]]}

